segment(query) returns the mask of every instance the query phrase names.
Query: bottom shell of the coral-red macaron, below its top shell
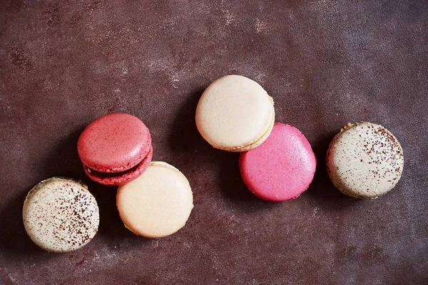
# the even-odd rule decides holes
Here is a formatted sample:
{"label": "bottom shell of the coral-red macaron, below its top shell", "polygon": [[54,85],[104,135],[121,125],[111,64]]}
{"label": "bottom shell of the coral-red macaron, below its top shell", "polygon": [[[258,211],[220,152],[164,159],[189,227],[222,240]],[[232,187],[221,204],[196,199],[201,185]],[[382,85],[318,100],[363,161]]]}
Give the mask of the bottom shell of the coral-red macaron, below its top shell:
{"label": "bottom shell of the coral-red macaron, below its top shell", "polygon": [[150,146],[148,150],[148,154],[144,159],[140,162],[140,164],[136,165],[131,170],[127,170],[125,172],[117,172],[117,173],[111,173],[111,175],[101,175],[101,173],[97,172],[91,172],[86,165],[83,165],[83,168],[86,172],[86,175],[91,178],[91,180],[98,182],[103,185],[110,185],[110,186],[118,186],[118,185],[124,185],[128,182],[131,182],[132,180],[136,179],[138,176],[143,174],[144,171],[146,171],[148,165],[150,165],[150,162],[153,157],[153,147]]}

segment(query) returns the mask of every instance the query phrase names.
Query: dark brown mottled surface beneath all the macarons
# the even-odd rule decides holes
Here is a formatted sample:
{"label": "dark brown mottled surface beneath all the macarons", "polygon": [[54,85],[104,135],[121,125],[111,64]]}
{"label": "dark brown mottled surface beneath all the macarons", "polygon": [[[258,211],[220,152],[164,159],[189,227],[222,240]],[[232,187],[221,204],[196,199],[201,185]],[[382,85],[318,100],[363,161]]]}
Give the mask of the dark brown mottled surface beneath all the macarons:
{"label": "dark brown mottled surface beneath all the macarons", "polygon": [[[1,1],[1,284],[428,284],[428,1]],[[258,81],[277,122],[318,160],[309,190],[263,202],[238,155],[198,134],[195,106],[226,74]],[[151,129],[155,160],[193,187],[188,224],[165,239],[123,227],[115,189],[89,181],[79,133],[112,112]],[[396,189],[357,200],[332,187],[325,151],[348,121],[404,147]],[[54,175],[88,182],[96,237],[69,254],[36,247],[26,193]]]}

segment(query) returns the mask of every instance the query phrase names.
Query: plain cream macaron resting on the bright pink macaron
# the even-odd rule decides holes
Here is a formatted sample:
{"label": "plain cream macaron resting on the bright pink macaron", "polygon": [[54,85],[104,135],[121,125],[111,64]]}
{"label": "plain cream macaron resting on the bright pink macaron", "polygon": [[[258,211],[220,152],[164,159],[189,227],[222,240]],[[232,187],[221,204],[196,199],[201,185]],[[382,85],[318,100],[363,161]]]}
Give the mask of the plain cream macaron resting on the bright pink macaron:
{"label": "plain cream macaron resting on the bright pink macaron", "polygon": [[273,100],[257,82],[225,76],[208,86],[196,108],[200,135],[213,147],[243,152],[258,147],[272,131]]}

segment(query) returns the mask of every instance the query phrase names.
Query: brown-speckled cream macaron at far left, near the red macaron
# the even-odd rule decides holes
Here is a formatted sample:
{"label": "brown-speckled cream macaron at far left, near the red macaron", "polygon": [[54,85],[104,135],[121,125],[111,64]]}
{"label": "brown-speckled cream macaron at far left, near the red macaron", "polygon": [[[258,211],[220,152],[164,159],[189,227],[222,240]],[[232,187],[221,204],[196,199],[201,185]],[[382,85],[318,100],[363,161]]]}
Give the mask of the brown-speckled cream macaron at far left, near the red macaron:
{"label": "brown-speckled cream macaron at far left, near the red macaron", "polygon": [[96,199],[86,185],[52,177],[34,186],[22,211],[24,227],[35,244],[49,252],[71,252],[98,231]]}

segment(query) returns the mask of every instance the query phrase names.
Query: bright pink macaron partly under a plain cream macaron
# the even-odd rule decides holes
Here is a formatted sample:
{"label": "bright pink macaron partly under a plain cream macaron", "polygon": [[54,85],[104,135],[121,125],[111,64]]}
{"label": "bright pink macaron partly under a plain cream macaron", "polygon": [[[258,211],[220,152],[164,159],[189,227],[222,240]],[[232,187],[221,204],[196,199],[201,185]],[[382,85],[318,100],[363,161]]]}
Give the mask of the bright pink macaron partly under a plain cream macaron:
{"label": "bright pink macaron partly under a plain cream macaron", "polygon": [[310,143],[292,125],[275,123],[259,147],[240,154],[245,185],[254,195],[272,202],[298,197],[307,190],[317,161]]}

